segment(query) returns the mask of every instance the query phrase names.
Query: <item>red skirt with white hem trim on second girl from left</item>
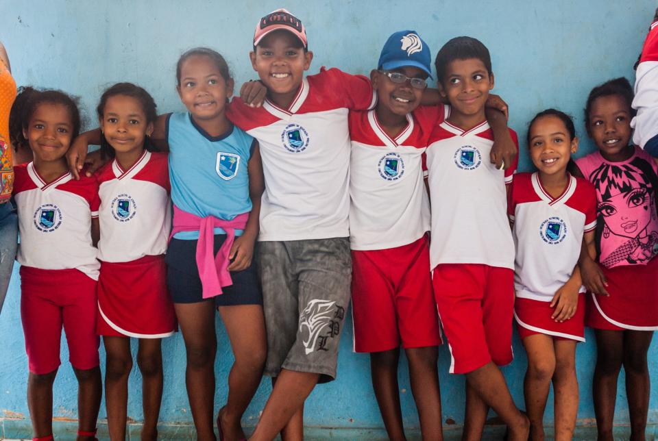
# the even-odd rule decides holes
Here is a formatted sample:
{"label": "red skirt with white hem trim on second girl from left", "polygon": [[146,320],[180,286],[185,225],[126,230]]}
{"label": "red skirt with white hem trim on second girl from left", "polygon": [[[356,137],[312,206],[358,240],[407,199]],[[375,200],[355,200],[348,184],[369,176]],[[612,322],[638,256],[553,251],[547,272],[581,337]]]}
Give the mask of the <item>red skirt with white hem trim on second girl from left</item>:
{"label": "red skirt with white hem trim on second girl from left", "polygon": [[101,262],[97,292],[99,335],[164,338],[175,331],[164,255]]}

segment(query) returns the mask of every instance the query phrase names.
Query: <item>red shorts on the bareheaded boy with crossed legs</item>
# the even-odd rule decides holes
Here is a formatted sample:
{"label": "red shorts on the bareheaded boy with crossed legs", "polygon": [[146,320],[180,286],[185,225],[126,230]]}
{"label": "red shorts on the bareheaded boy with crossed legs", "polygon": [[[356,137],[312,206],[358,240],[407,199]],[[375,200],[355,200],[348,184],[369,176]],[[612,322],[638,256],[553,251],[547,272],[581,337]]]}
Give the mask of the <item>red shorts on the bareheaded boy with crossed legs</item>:
{"label": "red shorts on the bareheaded boy with crossed legs", "polygon": [[483,264],[439,264],[432,272],[450,373],[513,359],[514,272]]}

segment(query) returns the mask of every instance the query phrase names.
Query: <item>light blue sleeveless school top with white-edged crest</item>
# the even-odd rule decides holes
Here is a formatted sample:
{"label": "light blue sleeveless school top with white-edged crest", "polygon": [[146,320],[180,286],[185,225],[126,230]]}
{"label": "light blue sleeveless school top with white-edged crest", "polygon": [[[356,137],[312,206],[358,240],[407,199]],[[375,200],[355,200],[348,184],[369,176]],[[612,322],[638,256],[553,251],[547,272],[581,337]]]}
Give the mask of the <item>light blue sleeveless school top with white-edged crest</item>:
{"label": "light blue sleeveless school top with white-edged crest", "polygon": [[[232,220],[252,210],[247,162],[255,141],[238,127],[210,136],[188,113],[167,118],[169,181],[176,207],[199,217]],[[215,228],[215,234],[225,234]],[[236,230],[236,236],[242,230]],[[198,231],[183,231],[177,239],[199,238]]]}

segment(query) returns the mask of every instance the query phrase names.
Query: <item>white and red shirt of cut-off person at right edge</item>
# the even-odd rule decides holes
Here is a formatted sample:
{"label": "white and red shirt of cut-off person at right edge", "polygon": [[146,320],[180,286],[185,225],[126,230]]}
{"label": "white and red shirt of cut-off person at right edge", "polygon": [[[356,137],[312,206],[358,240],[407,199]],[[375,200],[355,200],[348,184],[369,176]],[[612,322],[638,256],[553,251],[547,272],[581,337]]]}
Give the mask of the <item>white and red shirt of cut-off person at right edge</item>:
{"label": "white and red shirt of cut-off person at right edge", "polygon": [[658,134],[658,21],[649,29],[635,71],[633,109],[637,110],[631,121],[633,143],[644,149],[644,144]]}

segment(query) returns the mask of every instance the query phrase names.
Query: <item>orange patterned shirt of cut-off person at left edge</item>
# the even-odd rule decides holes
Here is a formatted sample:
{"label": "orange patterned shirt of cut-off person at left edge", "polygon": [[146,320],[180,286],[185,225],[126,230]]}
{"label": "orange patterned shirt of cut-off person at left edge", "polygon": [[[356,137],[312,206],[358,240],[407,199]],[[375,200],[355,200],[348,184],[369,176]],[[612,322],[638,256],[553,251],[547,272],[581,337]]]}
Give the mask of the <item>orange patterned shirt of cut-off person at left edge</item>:
{"label": "orange patterned shirt of cut-off person at left edge", "polygon": [[12,147],[9,144],[9,112],[16,99],[16,82],[0,62],[0,203],[8,201],[14,187]]}

